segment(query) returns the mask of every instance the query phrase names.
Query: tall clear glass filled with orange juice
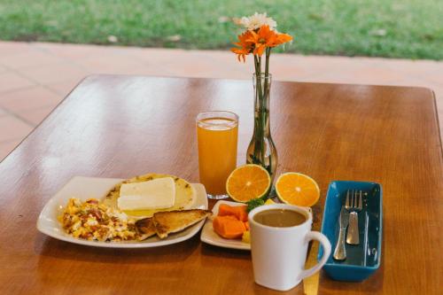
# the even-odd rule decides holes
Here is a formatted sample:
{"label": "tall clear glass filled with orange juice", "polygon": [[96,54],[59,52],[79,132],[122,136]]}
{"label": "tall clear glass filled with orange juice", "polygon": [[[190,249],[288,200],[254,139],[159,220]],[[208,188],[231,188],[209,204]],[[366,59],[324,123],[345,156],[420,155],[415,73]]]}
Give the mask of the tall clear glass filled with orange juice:
{"label": "tall clear glass filled with orange juice", "polygon": [[198,113],[198,171],[208,198],[228,198],[226,180],[237,167],[238,116],[225,111]]}

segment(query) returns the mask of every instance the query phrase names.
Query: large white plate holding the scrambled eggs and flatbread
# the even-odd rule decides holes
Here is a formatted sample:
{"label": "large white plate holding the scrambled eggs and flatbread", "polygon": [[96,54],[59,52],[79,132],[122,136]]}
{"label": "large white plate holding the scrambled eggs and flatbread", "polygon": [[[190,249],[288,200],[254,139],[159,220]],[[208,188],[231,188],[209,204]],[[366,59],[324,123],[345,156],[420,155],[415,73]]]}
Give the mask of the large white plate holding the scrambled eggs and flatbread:
{"label": "large white plate holding the scrambled eggs and flatbread", "polygon": [[[158,247],[162,245],[171,245],[187,240],[197,234],[198,230],[200,230],[205,223],[205,221],[200,221],[190,228],[172,234],[165,239],[159,239],[159,237],[150,237],[142,242],[88,241],[80,238],[75,238],[66,234],[65,230],[58,222],[57,216],[63,212],[63,208],[66,206],[69,198],[80,198],[83,201],[87,198],[101,199],[105,197],[106,193],[111,190],[115,184],[121,181],[122,179],[116,178],[75,176],[73,179],[67,182],[66,185],[61,190],[59,190],[58,193],[54,197],[52,197],[43,207],[43,210],[37,220],[37,229],[43,232],[43,234],[45,235],[74,244],[107,248],[148,248]],[[192,186],[197,192],[197,198],[195,199],[192,208],[207,209],[205,187],[199,183],[192,183]]]}

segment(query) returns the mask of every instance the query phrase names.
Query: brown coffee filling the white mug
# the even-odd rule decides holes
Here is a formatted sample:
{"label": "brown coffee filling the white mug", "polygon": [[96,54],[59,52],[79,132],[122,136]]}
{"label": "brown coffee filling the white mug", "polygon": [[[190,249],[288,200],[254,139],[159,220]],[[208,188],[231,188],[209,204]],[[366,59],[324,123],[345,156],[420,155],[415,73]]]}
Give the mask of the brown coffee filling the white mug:
{"label": "brown coffee filling the white mug", "polygon": [[276,228],[288,228],[306,221],[306,216],[293,210],[270,209],[256,213],[253,220]]}

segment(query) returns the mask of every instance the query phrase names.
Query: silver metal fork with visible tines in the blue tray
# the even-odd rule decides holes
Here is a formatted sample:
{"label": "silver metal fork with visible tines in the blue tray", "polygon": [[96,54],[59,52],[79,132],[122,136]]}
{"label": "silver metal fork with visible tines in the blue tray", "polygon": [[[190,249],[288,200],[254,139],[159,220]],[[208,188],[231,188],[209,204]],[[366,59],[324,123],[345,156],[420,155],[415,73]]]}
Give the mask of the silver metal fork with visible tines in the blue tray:
{"label": "silver metal fork with visible tines in the blue tray", "polygon": [[359,215],[358,212],[363,208],[361,190],[347,190],[345,208],[349,211],[349,228],[347,229],[346,243],[350,245],[360,244],[359,234]]}

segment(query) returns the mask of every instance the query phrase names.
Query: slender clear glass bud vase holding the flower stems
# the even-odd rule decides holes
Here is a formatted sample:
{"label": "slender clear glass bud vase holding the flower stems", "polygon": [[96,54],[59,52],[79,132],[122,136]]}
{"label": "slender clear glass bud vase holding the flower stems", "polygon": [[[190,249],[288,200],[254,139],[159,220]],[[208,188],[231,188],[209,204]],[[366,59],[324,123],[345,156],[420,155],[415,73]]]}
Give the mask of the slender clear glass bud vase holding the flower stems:
{"label": "slender clear glass bud vase holding the flower stems", "polygon": [[246,152],[247,164],[258,164],[268,170],[274,180],[277,151],[269,128],[269,100],[271,74],[253,74],[254,119],[253,138]]}

